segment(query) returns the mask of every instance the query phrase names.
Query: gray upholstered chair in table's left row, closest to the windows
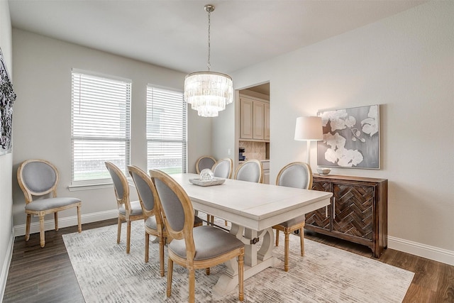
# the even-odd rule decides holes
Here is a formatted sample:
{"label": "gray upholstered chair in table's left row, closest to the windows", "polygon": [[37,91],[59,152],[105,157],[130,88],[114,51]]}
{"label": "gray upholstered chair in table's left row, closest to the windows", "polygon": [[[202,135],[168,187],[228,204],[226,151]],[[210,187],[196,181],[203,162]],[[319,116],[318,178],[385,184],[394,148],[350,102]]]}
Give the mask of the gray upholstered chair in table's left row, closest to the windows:
{"label": "gray upholstered chair in table's left row, closest to the windows", "polygon": [[131,221],[144,219],[142,206],[139,201],[131,202],[129,199],[129,184],[126,175],[112,162],[105,162],[107,170],[114,181],[116,204],[118,209],[118,231],[116,243],[121,240],[121,222],[126,221],[126,253],[131,247]]}

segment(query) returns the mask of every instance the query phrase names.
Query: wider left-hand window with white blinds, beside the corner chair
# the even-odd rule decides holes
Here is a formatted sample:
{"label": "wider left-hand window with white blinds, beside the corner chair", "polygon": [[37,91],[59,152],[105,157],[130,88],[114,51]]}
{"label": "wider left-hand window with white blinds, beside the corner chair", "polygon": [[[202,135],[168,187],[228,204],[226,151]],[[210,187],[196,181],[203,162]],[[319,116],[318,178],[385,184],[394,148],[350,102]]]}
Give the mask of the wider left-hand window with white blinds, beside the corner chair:
{"label": "wider left-hand window with white blinds, beside the corner chair", "polygon": [[131,80],[72,70],[71,99],[72,184],[111,182],[104,161],[129,165]]}

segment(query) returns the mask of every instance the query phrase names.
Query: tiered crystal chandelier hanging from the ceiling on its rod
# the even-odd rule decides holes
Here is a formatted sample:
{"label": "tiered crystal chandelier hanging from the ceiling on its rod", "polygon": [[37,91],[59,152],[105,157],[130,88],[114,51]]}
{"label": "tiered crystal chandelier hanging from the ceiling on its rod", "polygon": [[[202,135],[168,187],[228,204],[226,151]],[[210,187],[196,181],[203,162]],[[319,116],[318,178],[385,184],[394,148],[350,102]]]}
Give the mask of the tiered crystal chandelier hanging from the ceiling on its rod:
{"label": "tiered crystal chandelier hanging from the ceiling on its rod", "polygon": [[217,117],[219,111],[226,109],[226,104],[233,102],[232,78],[221,72],[211,72],[210,63],[210,14],[214,6],[206,4],[208,13],[208,71],[192,72],[184,79],[184,99],[199,116]]}

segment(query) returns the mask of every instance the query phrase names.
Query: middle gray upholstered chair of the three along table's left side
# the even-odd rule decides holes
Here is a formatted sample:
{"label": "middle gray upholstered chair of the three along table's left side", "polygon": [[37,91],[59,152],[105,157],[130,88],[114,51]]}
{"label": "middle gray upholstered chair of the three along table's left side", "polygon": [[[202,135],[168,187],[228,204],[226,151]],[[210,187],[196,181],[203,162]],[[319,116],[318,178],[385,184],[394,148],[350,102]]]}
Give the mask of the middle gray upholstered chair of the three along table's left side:
{"label": "middle gray upholstered chair of the three along table's left side", "polygon": [[150,176],[140,170],[139,167],[128,166],[129,175],[133,178],[135,189],[142,206],[145,225],[145,263],[148,263],[148,253],[150,250],[150,235],[159,239],[159,260],[160,274],[164,277],[164,244],[167,238],[167,231],[164,228],[164,221],[161,212],[157,209],[156,200],[159,199],[155,189],[155,184]]}

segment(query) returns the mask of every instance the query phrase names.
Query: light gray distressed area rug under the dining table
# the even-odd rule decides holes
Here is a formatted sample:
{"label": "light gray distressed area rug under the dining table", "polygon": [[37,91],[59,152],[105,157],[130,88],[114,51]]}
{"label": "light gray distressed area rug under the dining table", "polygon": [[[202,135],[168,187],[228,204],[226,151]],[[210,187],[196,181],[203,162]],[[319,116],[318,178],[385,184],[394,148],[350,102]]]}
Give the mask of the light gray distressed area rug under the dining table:
{"label": "light gray distressed area rug under the dining table", "polygon": [[[221,221],[223,223],[223,221]],[[402,302],[414,273],[345,250],[305,240],[299,253],[298,236],[290,236],[289,272],[284,272],[284,238],[279,233],[274,254],[282,260],[244,282],[243,302]],[[116,226],[63,235],[67,252],[86,302],[187,302],[188,275],[174,264],[172,296],[159,274],[158,243],[151,243],[144,262],[142,221],[132,222],[131,253],[126,254],[126,225],[121,243]],[[223,297],[212,293],[224,265],[196,271],[196,302],[238,302],[238,287]]]}

